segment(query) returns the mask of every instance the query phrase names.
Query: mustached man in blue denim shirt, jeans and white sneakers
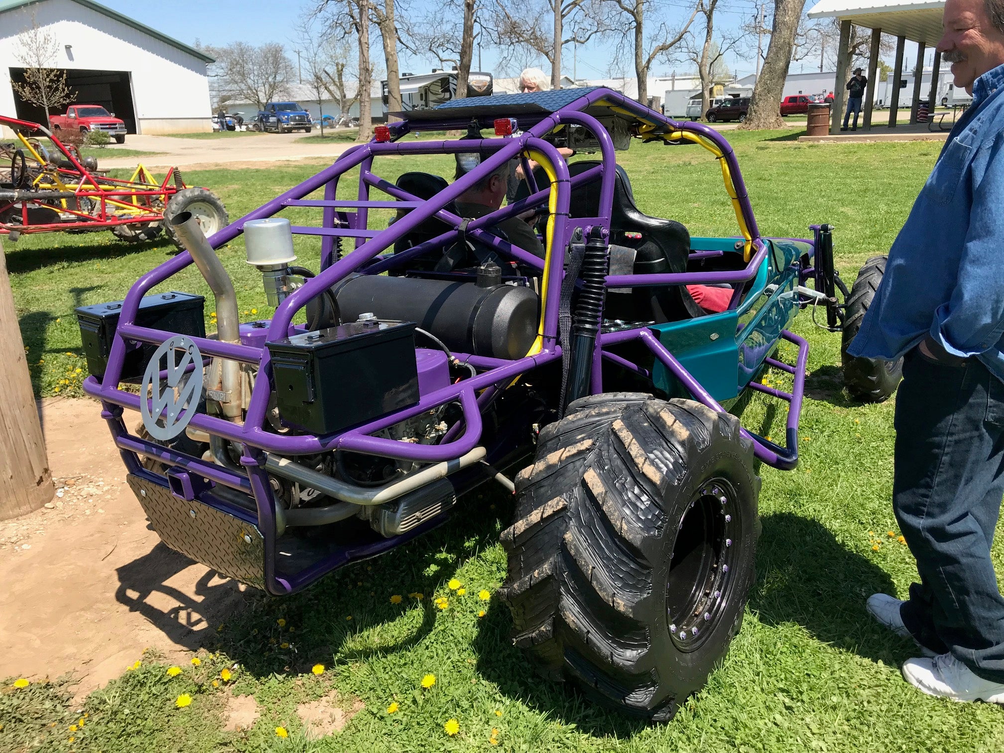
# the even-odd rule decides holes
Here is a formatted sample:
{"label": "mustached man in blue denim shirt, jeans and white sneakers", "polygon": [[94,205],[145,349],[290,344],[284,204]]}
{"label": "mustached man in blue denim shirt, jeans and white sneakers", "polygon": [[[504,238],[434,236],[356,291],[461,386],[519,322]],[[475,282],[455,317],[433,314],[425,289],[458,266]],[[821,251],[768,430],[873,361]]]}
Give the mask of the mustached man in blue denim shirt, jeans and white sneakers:
{"label": "mustached man in blue denim shirt, jeans and white sneakers", "polygon": [[900,231],[853,355],[906,355],[893,507],[921,582],[868,610],[927,658],[923,692],[1004,704],[1004,598],[990,545],[1004,494],[1004,0],[948,0],[938,50],[973,104]]}

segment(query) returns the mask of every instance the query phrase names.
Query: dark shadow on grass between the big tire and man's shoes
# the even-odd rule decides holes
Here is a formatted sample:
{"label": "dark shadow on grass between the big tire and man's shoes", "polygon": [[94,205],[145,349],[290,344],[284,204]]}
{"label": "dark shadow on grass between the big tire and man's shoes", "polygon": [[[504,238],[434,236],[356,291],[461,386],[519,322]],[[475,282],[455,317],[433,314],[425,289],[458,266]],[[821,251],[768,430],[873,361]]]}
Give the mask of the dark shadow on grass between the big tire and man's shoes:
{"label": "dark shadow on grass between the big tire and man's shoes", "polygon": [[872,661],[896,661],[892,634],[864,608],[870,594],[896,592],[889,574],[848,551],[815,520],[775,513],[762,522],[749,599],[760,621],[795,622],[836,648]]}

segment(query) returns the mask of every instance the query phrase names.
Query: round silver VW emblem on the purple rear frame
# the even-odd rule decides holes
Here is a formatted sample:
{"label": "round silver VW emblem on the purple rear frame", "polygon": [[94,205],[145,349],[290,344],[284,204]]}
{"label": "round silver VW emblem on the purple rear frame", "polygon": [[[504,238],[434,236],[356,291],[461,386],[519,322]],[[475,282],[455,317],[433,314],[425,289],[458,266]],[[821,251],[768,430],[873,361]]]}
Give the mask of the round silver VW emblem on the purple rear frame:
{"label": "round silver VW emblem on the purple rear frame", "polygon": [[[166,380],[161,379],[162,371]],[[202,397],[199,346],[183,334],[165,341],[147,364],[140,390],[140,414],[150,436],[159,440],[177,437],[192,421]]]}

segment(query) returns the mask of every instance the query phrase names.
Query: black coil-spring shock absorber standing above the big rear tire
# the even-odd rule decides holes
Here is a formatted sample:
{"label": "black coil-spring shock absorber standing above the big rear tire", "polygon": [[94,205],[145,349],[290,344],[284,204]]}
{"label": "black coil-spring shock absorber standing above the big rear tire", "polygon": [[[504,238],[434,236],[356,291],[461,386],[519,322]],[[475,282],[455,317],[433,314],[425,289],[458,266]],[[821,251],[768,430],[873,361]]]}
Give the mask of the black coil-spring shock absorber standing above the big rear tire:
{"label": "black coil-spring shock absorber standing above the big rear tire", "polygon": [[572,324],[571,366],[568,374],[568,403],[589,394],[592,376],[592,352],[603,315],[606,298],[604,279],[609,271],[605,231],[593,227],[585,242],[582,258],[582,288],[578,294]]}

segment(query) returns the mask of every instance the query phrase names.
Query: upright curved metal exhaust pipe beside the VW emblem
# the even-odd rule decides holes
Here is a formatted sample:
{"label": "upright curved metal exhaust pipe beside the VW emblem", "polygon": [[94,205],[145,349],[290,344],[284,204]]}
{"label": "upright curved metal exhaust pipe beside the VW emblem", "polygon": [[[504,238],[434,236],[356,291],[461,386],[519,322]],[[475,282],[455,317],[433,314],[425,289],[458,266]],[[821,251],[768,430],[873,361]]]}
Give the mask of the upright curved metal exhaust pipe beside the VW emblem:
{"label": "upright curved metal exhaust pipe beside the VW emblem", "polygon": [[[185,250],[192,254],[192,260],[205,278],[216,298],[217,337],[221,342],[240,344],[240,316],[237,312],[237,293],[230,275],[223,268],[220,257],[206,240],[199,222],[191,212],[182,212],[172,217],[171,227]],[[230,421],[239,421],[244,407],[241,392],[241,364],[229,358],[213,358],[207,391],[220,404],[223,415]],[[220,400],[222,398],[222,400]]]}

